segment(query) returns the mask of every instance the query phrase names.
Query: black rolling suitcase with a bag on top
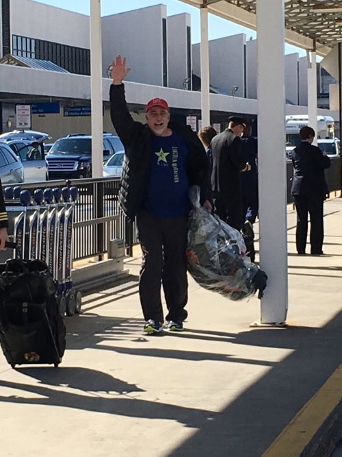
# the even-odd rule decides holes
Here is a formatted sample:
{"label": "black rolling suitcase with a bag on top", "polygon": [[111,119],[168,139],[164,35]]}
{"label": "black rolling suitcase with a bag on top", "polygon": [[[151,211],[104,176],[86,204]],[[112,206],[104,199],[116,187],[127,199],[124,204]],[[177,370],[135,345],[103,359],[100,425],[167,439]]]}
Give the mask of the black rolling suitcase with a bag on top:
{"label": "black rolling suitcase with a bag on top", "polygon": [[58,312],[56,284],[40,260],[0,264],[0,344],[12,368],[62,361],[66,328]]}

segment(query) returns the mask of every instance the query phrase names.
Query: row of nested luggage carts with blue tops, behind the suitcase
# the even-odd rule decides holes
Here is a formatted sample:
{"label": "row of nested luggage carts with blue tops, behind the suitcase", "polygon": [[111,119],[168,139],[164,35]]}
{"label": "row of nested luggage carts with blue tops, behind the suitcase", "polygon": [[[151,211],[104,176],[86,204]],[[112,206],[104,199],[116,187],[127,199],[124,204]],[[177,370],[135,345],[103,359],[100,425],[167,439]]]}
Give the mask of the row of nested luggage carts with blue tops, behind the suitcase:
{"label": "row of nested luggage carts with blue tops, behind the suitcase", "polygon": [[16,248],[1,251],[0,261],[8,258],[42,260],[47,263],[56,283],[57,306],[62,316],[81,312],[81,292],[73,287],[73,218],[77,188],[75,186],[41,189],[34,192],[19,186],[5,188],[9,232]]}

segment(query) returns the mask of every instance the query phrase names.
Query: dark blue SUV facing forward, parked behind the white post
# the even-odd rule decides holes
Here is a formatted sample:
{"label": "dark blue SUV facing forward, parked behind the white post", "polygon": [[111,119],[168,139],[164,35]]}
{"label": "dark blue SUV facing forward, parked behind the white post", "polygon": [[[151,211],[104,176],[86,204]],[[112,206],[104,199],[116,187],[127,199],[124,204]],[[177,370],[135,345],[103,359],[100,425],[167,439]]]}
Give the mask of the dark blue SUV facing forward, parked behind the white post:
{"label": "dark blue SUV facing forward, parked behind the white post", "polygon": [[[107,161],[124,149],[120,138],[103,134],[103,158]],[[49,180],[77,179],[92,176],[92,136],[71,134],[58,139],[45,156]]]}

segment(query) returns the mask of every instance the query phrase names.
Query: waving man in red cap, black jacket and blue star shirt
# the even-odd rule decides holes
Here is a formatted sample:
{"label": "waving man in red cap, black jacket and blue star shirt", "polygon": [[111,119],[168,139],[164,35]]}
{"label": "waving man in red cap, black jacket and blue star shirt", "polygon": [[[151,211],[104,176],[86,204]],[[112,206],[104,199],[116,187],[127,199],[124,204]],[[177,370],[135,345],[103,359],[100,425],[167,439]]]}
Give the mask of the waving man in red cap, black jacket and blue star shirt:
{"label": "waving man in red cap, black jacket and blue star shirt", "polygon": [[155,98],[146,106],[147,124],[133,121],[124,97],[126,58],[113,62],[110,88],[111,121],[124,145],[125,155],[119,201],[130,220],[137,216],[142,247],[140,302],[144,332],[163,329],[161,284],[168,307],[168,329],[183,330],[187,317],[187,214],[189,186],[201,188],[206,199],[208,160],[192,129],[170,122],[166,100]]}

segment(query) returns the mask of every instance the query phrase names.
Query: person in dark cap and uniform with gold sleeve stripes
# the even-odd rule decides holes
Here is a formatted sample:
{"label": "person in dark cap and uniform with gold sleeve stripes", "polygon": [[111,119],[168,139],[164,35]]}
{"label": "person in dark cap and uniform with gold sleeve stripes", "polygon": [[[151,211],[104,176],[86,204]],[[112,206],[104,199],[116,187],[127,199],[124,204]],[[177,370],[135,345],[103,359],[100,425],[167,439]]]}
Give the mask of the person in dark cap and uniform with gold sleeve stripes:
{"label": "person in dark cap and uniform with gold sleeve stripes", "polygon": [[210,143],[213,160],[211,190],[218,217],[231,227],[241,230],[244,214],[240,174],[250,171],[250,164],[241,155],[240,136],[246,121],[239,116],[231,116],[228,121],[228,128],[214,136]]}

